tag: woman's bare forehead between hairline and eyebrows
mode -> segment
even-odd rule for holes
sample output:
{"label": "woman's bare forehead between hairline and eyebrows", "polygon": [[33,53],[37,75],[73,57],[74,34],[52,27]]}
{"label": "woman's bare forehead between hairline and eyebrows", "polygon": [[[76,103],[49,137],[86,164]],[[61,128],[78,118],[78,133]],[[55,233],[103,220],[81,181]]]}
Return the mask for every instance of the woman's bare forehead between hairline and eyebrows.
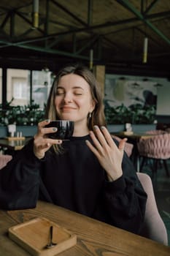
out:
{"label": "woman's bare forehead between hairline and eyebrows", "polygon": [[63,75],[58,81],[57,87],[62,87],[64,89],[80,88],[86,91],[90,90],[88,82],[80,75],[76,74]]}

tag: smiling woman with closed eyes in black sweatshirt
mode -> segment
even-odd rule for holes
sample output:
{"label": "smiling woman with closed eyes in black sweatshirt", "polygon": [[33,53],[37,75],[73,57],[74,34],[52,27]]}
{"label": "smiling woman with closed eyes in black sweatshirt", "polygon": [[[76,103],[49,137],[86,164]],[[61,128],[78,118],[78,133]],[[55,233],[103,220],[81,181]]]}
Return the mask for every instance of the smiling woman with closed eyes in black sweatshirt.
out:
{"label": "smiling woman with closed eyes in black sweatshirt", "polygon": [[[46,200],[110,225],[139,233],[146,194],[125,140],[112,140],[105,127],[101,94],[89,69],[79,64],[58,73],[47,101],[47,120],[0,172],[1,208],[34,208]],[[50,120],[74,121],[71,140],[47,138]]]}

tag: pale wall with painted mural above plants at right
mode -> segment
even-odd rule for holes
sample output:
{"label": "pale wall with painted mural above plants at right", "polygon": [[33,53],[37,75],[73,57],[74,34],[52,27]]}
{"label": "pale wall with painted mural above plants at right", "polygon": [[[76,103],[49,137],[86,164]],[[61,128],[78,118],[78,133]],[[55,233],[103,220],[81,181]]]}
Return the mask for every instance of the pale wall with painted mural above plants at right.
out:
{"label": "pale wall with painted mural above plants at right", "polygon": [[106,74],[104,99],[110,106],[144,104],[144,94],[148,91],[157,97],[157,115],[170,116],[170,81],[167,78]]}

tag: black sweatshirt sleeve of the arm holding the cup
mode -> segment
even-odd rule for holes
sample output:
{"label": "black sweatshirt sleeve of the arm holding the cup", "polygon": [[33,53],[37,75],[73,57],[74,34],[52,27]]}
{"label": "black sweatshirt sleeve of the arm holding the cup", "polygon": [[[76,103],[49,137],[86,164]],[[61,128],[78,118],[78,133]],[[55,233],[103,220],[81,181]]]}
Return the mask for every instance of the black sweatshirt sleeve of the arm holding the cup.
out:
{"label": "black sweatshirt sleeve of the arm holding the cup", "polygon": [[0,170],[0,208],[34,208],[39,197],[39,168],[32,140]]}

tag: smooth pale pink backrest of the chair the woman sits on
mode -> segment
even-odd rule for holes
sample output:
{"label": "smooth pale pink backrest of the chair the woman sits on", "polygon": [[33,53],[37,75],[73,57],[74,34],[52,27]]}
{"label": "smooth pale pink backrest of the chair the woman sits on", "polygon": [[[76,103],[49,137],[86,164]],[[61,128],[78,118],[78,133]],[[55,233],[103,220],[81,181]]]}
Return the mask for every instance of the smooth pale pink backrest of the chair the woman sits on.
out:
{"label": "smooth pale pink backrest of the chair the woman sits on", "polygon": [[147,193],[147,204],[144,217],[144,226],[140,236],[150,238],[162,244],[168,245],[168,235],[166,226],[158,212],[158,207],[155,201],[155,195],[152,187],[152,180],[146,173],[137,173],[139,181],[141,181],[144,191]]}

